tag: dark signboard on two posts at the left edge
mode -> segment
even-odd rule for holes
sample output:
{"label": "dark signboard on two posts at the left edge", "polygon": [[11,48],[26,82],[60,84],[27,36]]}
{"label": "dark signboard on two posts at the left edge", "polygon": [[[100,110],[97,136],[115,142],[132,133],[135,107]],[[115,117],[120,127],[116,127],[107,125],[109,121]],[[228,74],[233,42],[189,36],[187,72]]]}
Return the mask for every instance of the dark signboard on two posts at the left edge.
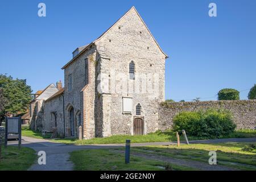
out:
{"label": "dark signboard on two posts at the left edge", "polygon": [[21,146],[21,117],[5,117],[5,147],[7,147],[7,140],[9,134],[18,134],[19,149]]}

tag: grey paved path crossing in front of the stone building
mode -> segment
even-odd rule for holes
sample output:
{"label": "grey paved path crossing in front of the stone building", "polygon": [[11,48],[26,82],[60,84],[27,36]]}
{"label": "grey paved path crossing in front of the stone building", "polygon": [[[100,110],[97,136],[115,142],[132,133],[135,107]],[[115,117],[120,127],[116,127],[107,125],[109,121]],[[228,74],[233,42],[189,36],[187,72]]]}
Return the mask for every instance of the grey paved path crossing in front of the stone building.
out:
{"label": "grey paved path crossing in front of the stone building", "polygon": [[[211,139],[211,140],[193,140],[189,143],[223,143],[223,142],[256,142],[256,138],[228,138],[228,139]],[[9,144],[17,144],[16,141],[9,141]],[[131,143],[132,147],[136,146],[157,146],[176,144],[175,142],[152,142],[152,143]],[[39,165],[36,160],[28,170],[32,171],[70,171],[73,169],[73,163],[69,161],[69,152],[86,149],[115,148],[123,147],[125,144],[94,144],[75,146],[73,144],[63,144],[51,142],[46,139],[35,139],[22,137],[22,146],[33,148],[38,154],[39,151],[46,152],[46,165]]]}

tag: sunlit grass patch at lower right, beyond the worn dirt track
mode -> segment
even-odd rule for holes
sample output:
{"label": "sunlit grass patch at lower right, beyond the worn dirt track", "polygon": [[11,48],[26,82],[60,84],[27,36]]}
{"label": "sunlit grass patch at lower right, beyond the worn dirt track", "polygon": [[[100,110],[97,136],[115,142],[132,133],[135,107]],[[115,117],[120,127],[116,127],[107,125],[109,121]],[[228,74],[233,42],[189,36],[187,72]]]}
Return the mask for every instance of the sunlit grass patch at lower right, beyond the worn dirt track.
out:
{"label": "sunlit grass patch at lower right, beyond the worn dirt track", "polygon": [[[181,144],[170,146],[134,147],[132,151],[144,154],[170,156],[177,159],[208,163],[209,151],[216,151],[217,164],[241,170],[256,170],[256,143]],[[131,152],[132,153],[132,152]]]}

